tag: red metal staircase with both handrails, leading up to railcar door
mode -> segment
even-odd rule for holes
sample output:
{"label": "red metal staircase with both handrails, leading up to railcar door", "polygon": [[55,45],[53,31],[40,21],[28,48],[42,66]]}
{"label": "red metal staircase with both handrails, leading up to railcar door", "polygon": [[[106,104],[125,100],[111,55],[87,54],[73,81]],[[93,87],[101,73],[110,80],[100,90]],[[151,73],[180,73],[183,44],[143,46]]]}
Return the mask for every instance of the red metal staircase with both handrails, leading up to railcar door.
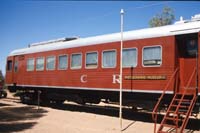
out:
{"label": "red metal staircase with both handrails, leading up to railcar door", "polygon": [[[176,77],[176,73],[177,70],[174,72],[170,80]],[[155,122],[154,133],[183,133],[197,100],[197,87],[189,87],[195,75],[197,75],[196,68],[192,72],[184,91],[175,92],[174,97],[168,106],[167,112],[161,121],[160,127],[157,130],[157,110],[165,94],[166,90],[164,90],[152,113],[152,118]],[[172,83],[171,81],[169,82]],[[167,89],[167,87],[165,89]]]}

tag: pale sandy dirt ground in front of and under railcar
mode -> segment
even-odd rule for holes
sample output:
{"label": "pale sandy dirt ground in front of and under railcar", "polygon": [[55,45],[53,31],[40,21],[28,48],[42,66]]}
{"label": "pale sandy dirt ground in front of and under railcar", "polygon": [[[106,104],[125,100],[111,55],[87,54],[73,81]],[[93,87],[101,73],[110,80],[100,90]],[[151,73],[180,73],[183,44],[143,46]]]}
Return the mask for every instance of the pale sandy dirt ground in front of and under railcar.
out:
{"label": "pale sandy dirt ground in front of and under railcar", "polygon": [[[153,133],[153,126],[150,113],[123,109],[122,133]],[[200,119],[191,119],[187,128],[187,133],[200,133]],[[65,102],[61,106],[38,109],[21,104],[9,95],[7,99],[0,99],[0,132],[120,133],[118,108]]]}

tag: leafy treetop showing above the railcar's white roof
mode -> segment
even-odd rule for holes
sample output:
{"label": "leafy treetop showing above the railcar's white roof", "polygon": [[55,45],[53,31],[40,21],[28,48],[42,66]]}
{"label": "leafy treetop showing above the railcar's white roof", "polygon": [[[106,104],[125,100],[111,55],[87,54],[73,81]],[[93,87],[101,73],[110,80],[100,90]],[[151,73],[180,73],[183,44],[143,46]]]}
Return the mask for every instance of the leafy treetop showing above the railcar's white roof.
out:
{"label": "leafy treetop showing above the railcar's white roof", "polygon": [[150,21],[150,27],[159,27],[172,24],[175,19],[174,11],[170,7],[164,7],[162,13],[156,14]]}

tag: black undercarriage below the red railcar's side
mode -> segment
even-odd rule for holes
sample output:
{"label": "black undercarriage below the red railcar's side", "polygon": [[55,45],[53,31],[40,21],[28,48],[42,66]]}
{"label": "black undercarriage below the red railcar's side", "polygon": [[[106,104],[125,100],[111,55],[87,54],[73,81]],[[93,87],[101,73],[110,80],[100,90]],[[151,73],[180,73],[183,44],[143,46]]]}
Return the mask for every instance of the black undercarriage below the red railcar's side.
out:
{"label": "black undercarriage below the red railcar's side", "polygon": [[[13,87],[9,87],[13,90]],[[75,89],[53,89],[53,88],[34,88],[34,87],[16,87],[16,95],[24,104],[62,104],[65,100],[72,101],[77,104],[99,104],[105,103],[119,103],[119,92],[117,91],[96,91],[96,90],[75,90]],[[123,106],[131,107],[134,110],[138,108],[152,111],[159,96],[157,93],[136,93],[123,92]],[[173,95],[165,96],[160,110],[166,110]],[[198,99],[193,113],[200,112],[200,100]]]}

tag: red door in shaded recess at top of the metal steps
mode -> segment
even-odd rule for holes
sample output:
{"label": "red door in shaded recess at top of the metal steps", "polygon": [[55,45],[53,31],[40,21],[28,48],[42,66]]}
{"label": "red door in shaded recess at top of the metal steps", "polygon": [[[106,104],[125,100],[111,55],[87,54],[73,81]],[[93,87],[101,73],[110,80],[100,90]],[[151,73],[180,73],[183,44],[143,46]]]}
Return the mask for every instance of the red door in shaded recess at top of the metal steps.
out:
{"label": "red door in shaded recess at top of the metal steps", "polygon": [[197,85],[196,68],[198,66],[198,33],[178,35],[176,36],[176,44],[178,45],[180,68],[178,92],[195,92]]}

